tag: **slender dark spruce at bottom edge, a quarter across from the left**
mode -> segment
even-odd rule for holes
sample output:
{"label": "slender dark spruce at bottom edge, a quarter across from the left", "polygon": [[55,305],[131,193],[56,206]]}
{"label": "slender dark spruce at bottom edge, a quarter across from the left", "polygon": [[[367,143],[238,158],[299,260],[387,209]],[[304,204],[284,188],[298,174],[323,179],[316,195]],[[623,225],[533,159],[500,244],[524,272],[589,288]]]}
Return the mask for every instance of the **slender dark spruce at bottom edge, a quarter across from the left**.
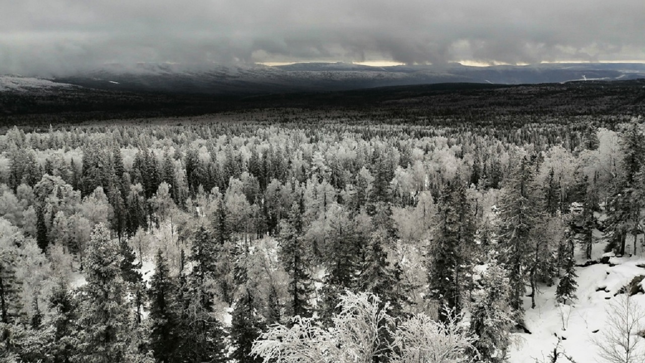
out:
{"label": "slender dark spruce at bottom edge, a quarter across from the left", "polygon": [[155,257],[155,273],[150,278],[148,299],[150,300],[150,349],[157,362],[175,362],[175,349],[181,342],[178,306],[175,302],[177,287],[168,271],[168,263],[161,250]]}

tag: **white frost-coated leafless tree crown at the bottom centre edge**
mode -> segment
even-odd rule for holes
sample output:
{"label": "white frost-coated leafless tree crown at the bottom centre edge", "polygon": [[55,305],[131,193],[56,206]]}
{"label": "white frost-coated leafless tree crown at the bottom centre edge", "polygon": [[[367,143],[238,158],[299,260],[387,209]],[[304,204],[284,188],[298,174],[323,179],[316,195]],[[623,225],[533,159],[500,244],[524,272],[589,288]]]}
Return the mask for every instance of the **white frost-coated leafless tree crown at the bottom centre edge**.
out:
{"label": "white frost-coated leafless tree crown at the bottom centre edge", "polygon": [[[471,339],[457,325],[413,316],[394,329],[388,304],[369,293],[341,296],[341,312],[325,329],[313,318],[293,318],[293,326],[276,325],[253,344],[252,354],[264,361],[299,362],[469,362]],[[382,330],[387,330],[383,334]],[[382,341],[384,335],[392,343]]]}

